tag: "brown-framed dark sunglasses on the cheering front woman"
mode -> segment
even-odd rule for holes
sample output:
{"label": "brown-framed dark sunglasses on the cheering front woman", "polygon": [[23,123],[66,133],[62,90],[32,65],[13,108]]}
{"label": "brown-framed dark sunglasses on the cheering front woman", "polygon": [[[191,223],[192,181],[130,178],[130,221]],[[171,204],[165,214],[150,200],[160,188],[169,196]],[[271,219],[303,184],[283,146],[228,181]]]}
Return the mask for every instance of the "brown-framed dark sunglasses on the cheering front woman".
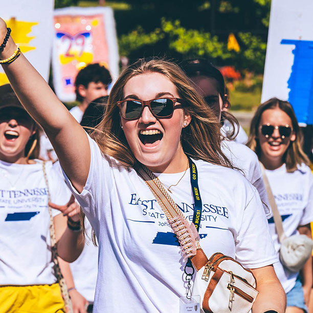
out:
{"label": "brown-framed dark sunglasses on the cheering front woman", "polygon": [[174,107],[181,108],[182,105],[175,105],[176,102],[184,103],[178,98],[160,98],[152,100],[127,99],[118,101],[120,114],[125,120],[137,120],[140,118],[145,106],[148,106],[152,115],[157,118],[170,118],[173,115]]}

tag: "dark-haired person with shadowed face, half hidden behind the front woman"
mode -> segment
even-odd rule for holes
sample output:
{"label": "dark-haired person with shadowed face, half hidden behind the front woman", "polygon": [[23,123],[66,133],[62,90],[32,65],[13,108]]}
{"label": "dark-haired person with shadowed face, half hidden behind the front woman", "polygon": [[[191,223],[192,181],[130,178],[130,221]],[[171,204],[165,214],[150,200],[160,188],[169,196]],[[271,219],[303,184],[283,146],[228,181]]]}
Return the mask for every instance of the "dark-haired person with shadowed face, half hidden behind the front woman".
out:
{"label": "dark-haired person with shadowed face, half hidden behind the front woman", "polygon": [[272,212],[269,209],[269,199],[267,199],[258,157],[247,146],[234,141],[237,136],[235,129],[238,129],[239,123],[232,114],[225,110],[229,109],[231,104],[228,101],[222,74],[205,59],[188,60],[183,62],[181,66],[193,81],[196,91],[204,97],[206,104],[221,121],[220,126],[225,121],[231,124],[232,131],[229,133],[225,133],[221,128],[221,133],[226,137],[221,142],[221,149],[232,164],[240,169],[240,172],[258,190],[266,217],[271,218]]}

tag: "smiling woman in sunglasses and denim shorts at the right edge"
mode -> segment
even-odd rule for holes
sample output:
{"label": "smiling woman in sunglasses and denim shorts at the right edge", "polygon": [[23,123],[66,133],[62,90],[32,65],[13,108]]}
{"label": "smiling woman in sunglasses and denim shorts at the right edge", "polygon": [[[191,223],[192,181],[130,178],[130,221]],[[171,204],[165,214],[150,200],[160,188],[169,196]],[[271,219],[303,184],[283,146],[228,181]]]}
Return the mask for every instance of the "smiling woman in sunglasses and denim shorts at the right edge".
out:
{"label": "smiling woman in sunglasses and denim shorts at the right edge", "polygon": [[[273,98],[258,107],[251,122],[248,146],[265,167],[286,236],[299,232],[311,238],[313,176],[300,143],[298,122],[288,102]],[[273,218],[269,223],[278,252],[280,243]],[[287,293],[286,312],[307,311],[305,304],[312,285],[311,258],[302,270],[303,288],[299,273],[290,272],[279,264],[274,267]]]}

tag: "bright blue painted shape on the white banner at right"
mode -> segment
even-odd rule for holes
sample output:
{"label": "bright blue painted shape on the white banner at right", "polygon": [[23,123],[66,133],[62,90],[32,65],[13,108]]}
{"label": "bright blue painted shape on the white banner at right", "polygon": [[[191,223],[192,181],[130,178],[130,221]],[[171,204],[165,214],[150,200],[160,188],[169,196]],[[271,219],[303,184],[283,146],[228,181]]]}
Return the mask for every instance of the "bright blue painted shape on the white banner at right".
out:
{"label": "bright blue painted shape on the white banner at right", "polygon": [[313,124],[313,41],[282,39],[281,44],[295,44],[294,63],[288,79],[288,101],[298,122]]}

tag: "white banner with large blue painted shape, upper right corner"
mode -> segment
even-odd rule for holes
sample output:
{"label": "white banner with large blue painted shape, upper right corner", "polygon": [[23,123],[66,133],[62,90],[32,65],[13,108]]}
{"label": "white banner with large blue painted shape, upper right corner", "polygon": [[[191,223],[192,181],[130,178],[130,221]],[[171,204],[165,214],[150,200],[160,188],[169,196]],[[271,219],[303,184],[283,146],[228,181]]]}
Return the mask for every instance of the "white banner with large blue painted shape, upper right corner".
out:
{"label": "white banner with large blue painted shape, upper right corner", "polygon": [[262,102],[288,100],[298,122],[313,124],[313,2],[272,0]]}

